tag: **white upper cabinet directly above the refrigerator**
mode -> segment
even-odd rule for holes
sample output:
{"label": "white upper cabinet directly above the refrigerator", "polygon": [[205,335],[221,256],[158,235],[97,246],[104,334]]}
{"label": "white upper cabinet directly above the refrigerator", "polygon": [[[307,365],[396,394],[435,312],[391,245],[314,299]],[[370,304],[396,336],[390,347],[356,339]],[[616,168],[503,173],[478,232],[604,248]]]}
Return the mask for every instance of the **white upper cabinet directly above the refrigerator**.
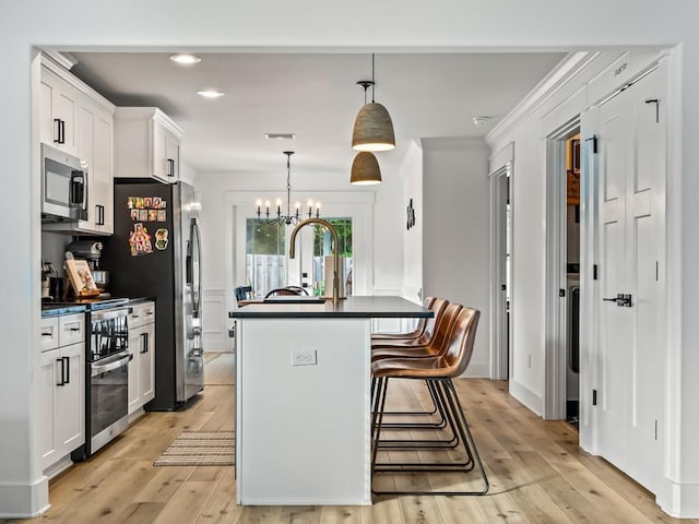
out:
{"label": "white upper cabinet directly above the refrigerator", "polygon": [[182,130],[156,107],[118,107],[115,112],[115,177],[179,180]]}

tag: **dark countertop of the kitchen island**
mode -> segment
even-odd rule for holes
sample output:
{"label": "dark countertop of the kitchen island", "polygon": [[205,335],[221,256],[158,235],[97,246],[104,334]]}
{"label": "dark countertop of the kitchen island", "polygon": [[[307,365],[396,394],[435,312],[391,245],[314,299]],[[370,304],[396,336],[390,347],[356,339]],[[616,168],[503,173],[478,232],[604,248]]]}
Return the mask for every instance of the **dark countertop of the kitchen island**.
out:
{"label": "dark countertop of the kitchen island", "polygon": [[429,309],[401,297],[348,297],[333,305],[251,302],[228,312],[232,319],[404,319],[433,317]]}

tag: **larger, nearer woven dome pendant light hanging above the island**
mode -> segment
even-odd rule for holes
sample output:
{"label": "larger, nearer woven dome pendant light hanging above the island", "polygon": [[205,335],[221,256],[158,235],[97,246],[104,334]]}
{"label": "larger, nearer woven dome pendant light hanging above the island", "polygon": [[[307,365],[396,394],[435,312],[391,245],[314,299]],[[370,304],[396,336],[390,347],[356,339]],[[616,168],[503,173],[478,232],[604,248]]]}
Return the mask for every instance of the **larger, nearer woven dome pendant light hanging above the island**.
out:
{"label": "larger, nearer woven dome pendant light hanging above the island", "polygon": [[[356,151],[389,151],[395,147],[393,122],[386,107],[374,100],[374,64],[371,53],[371,80],[357,82],[364,87],[364,106],[359,109],[352,131],[352,148]],[[367,104],[367,90],[371,86],[371,103]]]}

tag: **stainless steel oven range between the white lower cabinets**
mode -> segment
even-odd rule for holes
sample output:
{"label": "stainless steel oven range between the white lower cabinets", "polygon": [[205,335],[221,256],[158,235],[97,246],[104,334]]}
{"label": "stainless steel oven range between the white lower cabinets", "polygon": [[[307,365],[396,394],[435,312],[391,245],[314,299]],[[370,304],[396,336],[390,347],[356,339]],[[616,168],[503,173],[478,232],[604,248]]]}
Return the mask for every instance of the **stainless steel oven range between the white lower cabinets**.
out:
{"label": "stainless steel oven range between the white lower cabinets", "polygon": [[[85,460],[129,425],[129,312],[116,307],[90,311],[90,348],[85,374],[85,445],[73,452]],[[98,306],[97,306],[98,308]]]}

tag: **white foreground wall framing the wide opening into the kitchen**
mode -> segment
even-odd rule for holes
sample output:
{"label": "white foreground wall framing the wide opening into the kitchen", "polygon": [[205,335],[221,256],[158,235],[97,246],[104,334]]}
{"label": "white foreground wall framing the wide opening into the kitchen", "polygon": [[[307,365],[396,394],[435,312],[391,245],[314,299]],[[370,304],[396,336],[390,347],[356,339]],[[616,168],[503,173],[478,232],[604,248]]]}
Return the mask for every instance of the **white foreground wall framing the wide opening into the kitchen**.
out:
{"label": "white foreground wall framing the wide opening into the kitchen", "polygon": [[[3,258],[0,330],[3,357],[0,368],[0,509],[3,515],[40,511],[47,500],[47,483],[35,458],[34,370],[39,347],[38,323],[40,226],[38,132],[33,122],[36,83],[32,83],[32,46],[68,49],[208,49],[208,50],[517,50],[629,48],[682,44],[673,83],[673,97],[682,118],[674,121],[678,141],[671,144],[668,187],[677,196],[670,218],[672,282],[676,293],[672,314],[671,359],[673,384],[671,422],[673,448],[668,450],[668,476],[674,483],[667,508],[675,514],[699,515],[699,236],[695,233],[695,202],[699,195],[694,150],[699,143],[699,4],[670,0],[662,9],[653,0],[590,0],[584,9],[556,0],[370,0],[354,2],[229,2],[211,0],[205,11],[193,11],[185,0],[0,0],[0,47],[3,81],[0,82],[0,157],[2,177],[12,189],[4,203],[12,227],[0,233],[0,242],[12,246]],[[358,13],[362,29],[347,20]],[[299,15],[300,14],[300,15]],[[192,23],[196,15],[197,23]],[[294,23],[289,24],[288,21]],[[80,31],[75,31],[79,27]],[[34,68],[38,73],[38,69]],[[686,166],[686,167],[685,167]],[[401,193],[400,186],[395,188]],[[378,200],[378,199],[377,199]],[[668,207],[670,209],[670,207]],[[390,215],[390,213],[389,213]],[[396,221],[402,225],[402,216]],[[378,218],[378,216],[377,216]],[[390,218],[387,217],[387,218]],[[683,227],[686,224],[687,227]],[[378,240],[378,239],[377,239]],[[402,248],[399,247],[402,251]],[[377,257],[379,257],[377,252]],[[378,269],[383,271],[382,269]],[[380,274],[377,271],[377,279]],[[387,281],[390,275],[387,275]],[[396,285],[402,277],[395,278]],[[684,402],[683,402],[684,401]]]}

